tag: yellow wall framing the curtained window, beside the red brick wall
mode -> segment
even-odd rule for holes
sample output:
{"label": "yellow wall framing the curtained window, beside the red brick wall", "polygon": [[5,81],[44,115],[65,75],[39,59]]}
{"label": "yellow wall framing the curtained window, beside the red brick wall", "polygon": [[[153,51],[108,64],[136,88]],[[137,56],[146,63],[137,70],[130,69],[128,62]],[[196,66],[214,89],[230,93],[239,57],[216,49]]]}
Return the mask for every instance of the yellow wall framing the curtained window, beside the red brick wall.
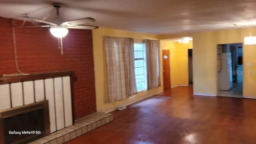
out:
{"label": "yellow wall framing the curtained window, beside the red brick wall", "polygon": [[[109,28],[98,28],[92,31],[93,38],[93,55],[94,55],[94,74],[95,74],[95,89],[96,89],[96,107],[102,108],[103,111],[108,111],[113,108],[117,108],[122,104],[127,104],[138,99],[142,99],[147,96],[152,96],[159,92],[162,92],[161,87],[154,90],[144,90],[138,92],[138,94],[127,98],[125,100],[120,100],[116,102],[108,103],[108,89],[107,89],[107,77],[106,77],[106,58],[105,58],[105,49],[103,46],[103,37],[102,36],[116,36],[116,37],[125,37],[125,38],[134,38],[134,39],[151,39],[156,40],[155,35],[151,34],[142,34],[138,32],[129,32],[124,30],[115,30]],[[160,65],[162,66],[162,60]],[[162,72],[160,73],[162,78]],[[162,82],[162,80],[161,80]]]}

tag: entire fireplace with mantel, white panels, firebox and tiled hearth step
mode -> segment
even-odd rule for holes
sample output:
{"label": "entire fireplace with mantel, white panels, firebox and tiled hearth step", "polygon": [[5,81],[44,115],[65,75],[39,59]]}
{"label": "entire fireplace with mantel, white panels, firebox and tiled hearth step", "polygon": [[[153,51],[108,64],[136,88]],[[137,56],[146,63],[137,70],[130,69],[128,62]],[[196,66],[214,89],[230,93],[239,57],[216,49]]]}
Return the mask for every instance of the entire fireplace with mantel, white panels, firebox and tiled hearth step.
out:
{"label": "entire fireplace with mantel, white panels, firebox and tiled hearth step", "polygon": [[72,118],[73,80],[73,71],[0,77],[0,144],[62,144],[111,122],[103,112]]}

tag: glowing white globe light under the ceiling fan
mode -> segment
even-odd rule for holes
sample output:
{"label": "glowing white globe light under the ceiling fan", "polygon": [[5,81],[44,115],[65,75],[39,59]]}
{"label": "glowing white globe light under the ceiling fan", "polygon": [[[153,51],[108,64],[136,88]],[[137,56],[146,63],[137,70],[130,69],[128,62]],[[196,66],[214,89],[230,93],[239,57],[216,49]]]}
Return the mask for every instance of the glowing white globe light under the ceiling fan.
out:
{"label": "glowing white globe light under the ceiling fan", "polygon": [[50,28],[50,32],[53,36],[57,38],[63,38],[68,34],[68,29],[66,28],[66,26],[52,25]]}

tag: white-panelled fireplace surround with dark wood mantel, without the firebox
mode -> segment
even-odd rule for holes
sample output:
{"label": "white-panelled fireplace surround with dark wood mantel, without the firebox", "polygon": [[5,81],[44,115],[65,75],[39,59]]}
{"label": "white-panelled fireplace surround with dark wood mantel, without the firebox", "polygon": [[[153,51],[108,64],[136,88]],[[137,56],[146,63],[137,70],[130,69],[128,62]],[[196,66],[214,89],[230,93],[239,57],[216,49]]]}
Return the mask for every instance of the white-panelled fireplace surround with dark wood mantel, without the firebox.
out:
{"label": "white-panelled fireplace surround with dark wood mantel, without the firebox", "polygon": [[74,72],[0,77],[0,111],[48,100],[50,133],[72,126]]}

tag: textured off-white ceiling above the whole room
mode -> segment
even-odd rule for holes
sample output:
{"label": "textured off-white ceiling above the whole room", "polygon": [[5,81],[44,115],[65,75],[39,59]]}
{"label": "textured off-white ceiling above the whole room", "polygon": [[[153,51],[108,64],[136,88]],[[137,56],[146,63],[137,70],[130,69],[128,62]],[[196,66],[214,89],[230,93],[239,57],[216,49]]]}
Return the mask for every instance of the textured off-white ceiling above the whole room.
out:
{"label": "textured off-white ceiling above the whole room", "polygon": [[[48,20],[56,13],[49,0],[0,0],[0,16],[24,14]],[[256,0],[58,0],[65,20],[92,17],[88,25],[150,34],[236,28],[256,22]],[[254,26],[254,24],[249,24]]]}

